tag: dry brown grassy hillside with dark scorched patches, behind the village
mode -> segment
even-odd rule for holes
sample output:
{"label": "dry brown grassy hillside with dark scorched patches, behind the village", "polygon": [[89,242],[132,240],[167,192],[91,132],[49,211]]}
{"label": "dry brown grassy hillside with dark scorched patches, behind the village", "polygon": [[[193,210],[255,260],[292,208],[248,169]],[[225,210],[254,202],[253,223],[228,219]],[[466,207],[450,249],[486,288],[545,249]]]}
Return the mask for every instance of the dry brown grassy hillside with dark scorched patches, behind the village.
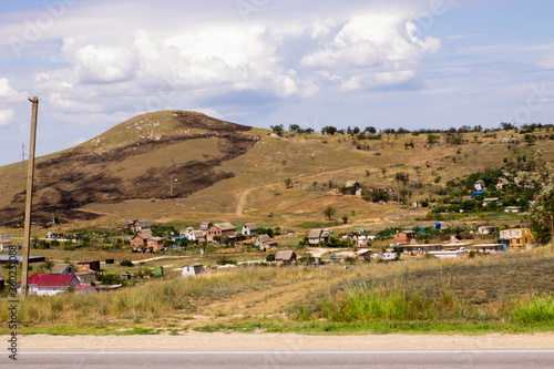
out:
{"label": "dry brown grassy hillside with dark scorched patches, behind the village", "polygon": [[[332,206],[334,224],[347,215],[346,227],[381,227],[398,224],[394,202],[371,204],[337,187],[356,180],[367,188],[396,189],[394,175],[402,172],[423,184],[410,189],[412,201],[432,199],[450,180],[531,160],[536,150],[552,161],[546,132],[533,134],[545,140],[531,144],[515,131],[462,133],[455,142],[435,134],[433,144],[427,134],[410,133],[380,140],[291,132],[276,136],[199,113],[148,113],[40,157],[33,221],[57,216],[68,227],[113,227],[130,218],[229,221],[295,228],[329,224],[321,212]],[[0,226],[17,227],[24,208],[21,164],[0,167]],[[418,214],[408,212],[401,209],[403,223]]]}

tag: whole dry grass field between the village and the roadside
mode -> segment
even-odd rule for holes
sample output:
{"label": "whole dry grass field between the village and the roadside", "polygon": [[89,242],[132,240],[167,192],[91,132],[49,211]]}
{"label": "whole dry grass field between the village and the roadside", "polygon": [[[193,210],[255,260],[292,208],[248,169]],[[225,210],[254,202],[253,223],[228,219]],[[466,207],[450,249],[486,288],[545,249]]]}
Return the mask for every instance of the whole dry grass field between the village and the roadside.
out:
{"label": "whole dry grass field between the village and the roadside", "polygon": [[[545,297],[551,291],[552,280],[545,279],[542,285],[535,283],[533,294],[531,290],[521,294],[502,288],[503,275],[506,268],[516,270],[510,278],[522,280],[520,287],[525,288],[531,283],[529,276],[536,268],[544,269],[540,263],[552,268],[554,258],[522,254],[465,260],[411,259],[358,264],[348,268],[242,267],[199,278],[155,280],[110,294],[31,297],[20,303],[18,318],[22,329],[28,330],[64,325],[89,327],[99,322],[112,322],[114,327],[203,328],[274,318],[288,327],[294,327],[297,320],[320,318],[347,322],[392,318],[452,319],[452,316],[461,322],[476,319],[499,324],[512,317],[507,311],[517,308],[520,312],[514,319],[520,317],[517,319],[524,321],[531,319],[530,316],[540,316],[541,311],[551,314],[550,300],[535,301],[533,296]],[[535,264],[536,268],[533,268]],[[470,297],[478,296],[482,286],[468,280],[480,280],[483,275],[488,279],[496,278],[493,285],[497,287],[496,295],[489,301],[472,300]],[[551,277],[546,275],[544,278]],[[418,283],[416,287],[410,285],[413,280]],[[363,296],[372,296],[373,303],[360,300]],[[349,308],[349,300],[358,301],[356,307]],[[0,300],[0,320],[3,321],[8,318],[6,304],[6,299]],[[360,316],[367,310],[363,308],[367,304],[381,304],[378,306],[381,306],[379,311],[382,315]],[[392,310],[387,310],[386,306]],[[350,311],[346,316],[345,308]],[[422,309],[422,315],[414,318],[414,309]],[[286,318],[287,311],[293,320]]]}

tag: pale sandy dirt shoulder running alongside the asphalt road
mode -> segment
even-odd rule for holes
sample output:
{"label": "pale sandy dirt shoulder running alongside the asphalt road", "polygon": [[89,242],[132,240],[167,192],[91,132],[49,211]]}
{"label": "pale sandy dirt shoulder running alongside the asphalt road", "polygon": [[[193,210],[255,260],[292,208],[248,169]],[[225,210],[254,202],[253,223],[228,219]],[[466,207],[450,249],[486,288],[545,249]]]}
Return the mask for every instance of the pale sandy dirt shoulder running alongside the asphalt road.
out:
{"label": "pale sandy dirt shoulder running alongside the asphalt road", "polygon": [[[8,336],[1,336],[2,341]],[[179,336],[22,336],[22,350],[371,350],[371,349],[553,349],[554,334],[368,335],[204,334]],[[21,353],[22,356],[24,352]]]}

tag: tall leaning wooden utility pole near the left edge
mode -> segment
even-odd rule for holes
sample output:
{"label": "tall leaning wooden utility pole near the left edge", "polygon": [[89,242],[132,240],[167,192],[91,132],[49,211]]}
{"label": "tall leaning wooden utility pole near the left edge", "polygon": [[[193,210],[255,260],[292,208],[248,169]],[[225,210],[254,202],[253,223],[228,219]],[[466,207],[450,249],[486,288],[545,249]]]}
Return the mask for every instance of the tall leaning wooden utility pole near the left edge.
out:
{"label": "tall leaning wooden utility pole near the left edge", "polygon": [[39,115],[39,98],[34,96],[31,116],[31,139],[29,146],[29,170],[27,175],[27,195],[25,195],[25,222],[23,238],[23,265],[21,270],[21,297],[27,296],[27,278],[29,277],[29,253],[31,249],[31,209],[33,198],[33,178],[34,178],[34,147],[37,143],[37,116]]}

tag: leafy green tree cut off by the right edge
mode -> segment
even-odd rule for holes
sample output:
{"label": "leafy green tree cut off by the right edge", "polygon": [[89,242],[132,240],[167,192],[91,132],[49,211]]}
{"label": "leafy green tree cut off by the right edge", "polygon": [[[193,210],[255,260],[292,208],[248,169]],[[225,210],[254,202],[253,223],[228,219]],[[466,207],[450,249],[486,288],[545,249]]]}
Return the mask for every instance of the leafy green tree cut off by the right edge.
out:
{"label": "leafy green tree cut off by the right edge", "polygon": [[531,175],[535,186],[535,201],[530,205],[527,217],[542,233],[542,239],[547,239],[547,229],[552,242],[551,252],[554,253],[554,168],[536,154],[536,171]]}

